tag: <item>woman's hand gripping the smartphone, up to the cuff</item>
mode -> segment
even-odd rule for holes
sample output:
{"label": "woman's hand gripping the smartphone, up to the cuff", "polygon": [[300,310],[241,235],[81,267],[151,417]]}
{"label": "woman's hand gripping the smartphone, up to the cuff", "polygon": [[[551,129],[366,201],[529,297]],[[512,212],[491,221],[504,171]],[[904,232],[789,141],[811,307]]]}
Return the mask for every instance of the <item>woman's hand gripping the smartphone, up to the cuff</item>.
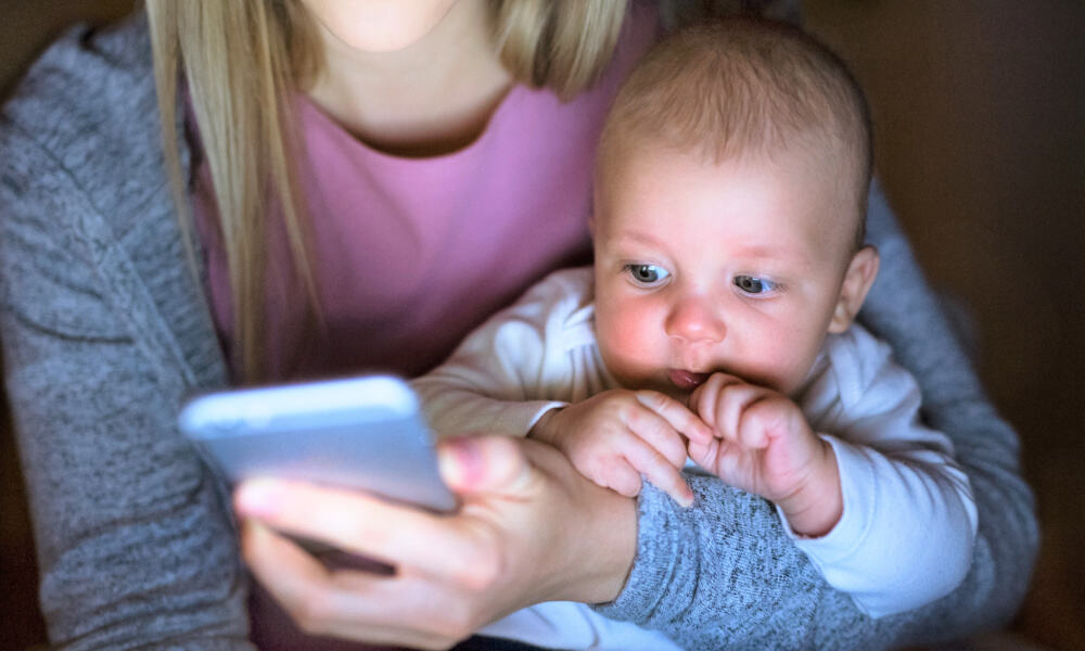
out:
{"label": "woman's hand gripping the smartphone, up to the cuff", "polygon": [[[445,649],[540,601],[613,600],[636,552],[636,505],[525,439],[449,439],[438,449],[461,508],[433,514],[368,495],[254,480],[234,501],[257,579],[312,635]],[[275,529],[275,531],[272,531]],[[277,532],[395,567],[328,570]]]}

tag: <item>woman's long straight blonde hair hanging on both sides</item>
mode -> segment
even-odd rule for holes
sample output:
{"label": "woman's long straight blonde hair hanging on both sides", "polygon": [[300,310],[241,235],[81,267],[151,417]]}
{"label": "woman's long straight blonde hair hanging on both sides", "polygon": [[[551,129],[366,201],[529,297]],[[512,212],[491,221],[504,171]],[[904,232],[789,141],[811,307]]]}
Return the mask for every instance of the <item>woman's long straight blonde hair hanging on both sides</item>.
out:
{"label": "woman's long straight blonde hair hanging on both sides", "polygon": [[[521,82],[571,98],[610,62],[626,0],[490,0],[495,43]],[[295,156],[291,95],[323,65],[302,0],[148,0],[163,146],[186,242],[191,242],[188,179],[178,142],[178,88],[187,85],[210,170],[226,250],[237,349],[244,382],[266,379],[264,361],[266,215],[282,215],[292,272],[319,322],[307,246],[305,201]],[[190,250],[191,253],[191,250]]]}

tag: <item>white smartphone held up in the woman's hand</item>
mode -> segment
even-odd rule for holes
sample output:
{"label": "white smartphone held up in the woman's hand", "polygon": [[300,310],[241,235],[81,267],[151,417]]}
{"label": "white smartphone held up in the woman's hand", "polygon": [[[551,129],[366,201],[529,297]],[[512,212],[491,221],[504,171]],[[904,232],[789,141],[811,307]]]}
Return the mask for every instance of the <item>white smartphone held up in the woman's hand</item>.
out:
{"label": "white smartphone held up in the woman's hand", "polygon": [[433,511],[456,497],[441,481],[433,433],[403,380],[367,375],[207,394],[181,432],[230,482],[253,476],[365,490]]}

